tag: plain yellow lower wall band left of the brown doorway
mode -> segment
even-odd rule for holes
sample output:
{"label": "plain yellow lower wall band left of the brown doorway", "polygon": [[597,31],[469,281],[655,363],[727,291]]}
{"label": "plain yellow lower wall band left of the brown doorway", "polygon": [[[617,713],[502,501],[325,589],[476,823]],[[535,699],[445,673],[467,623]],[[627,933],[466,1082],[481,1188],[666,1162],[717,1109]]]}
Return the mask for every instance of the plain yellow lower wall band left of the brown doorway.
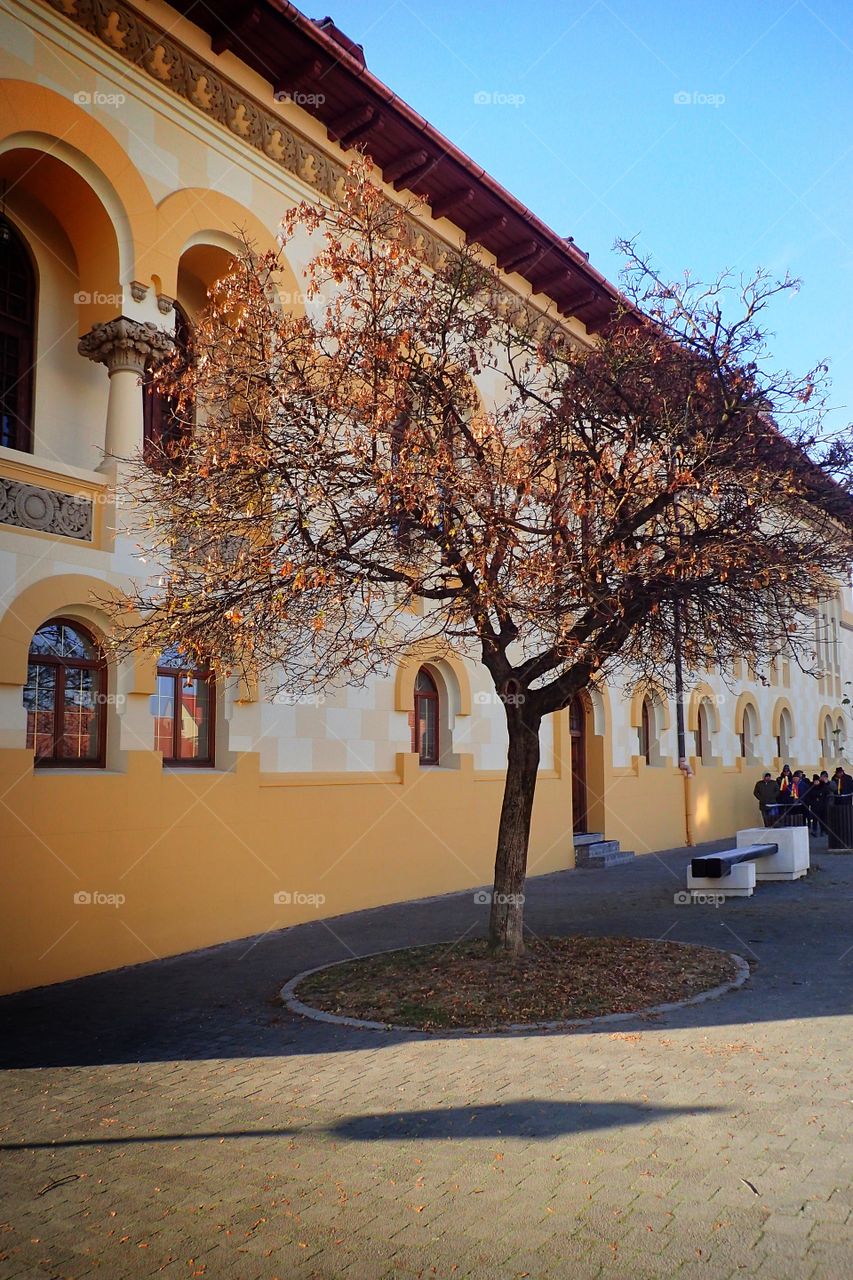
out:
{"label": "plain yellow lower wall band left of the brown doorway", "polygon": [[[129,753],[123,773],[35,773],[29,751],[1,751],[0,992],[491,883],[501,792],[500,778],[409,756],[393,780],[292,785],[254,754],[227,773],[164,771],[152,751]],[[573,863],[558,776],[539,783],[533,860]],[[277,892],[324,901],[277,905]]]}

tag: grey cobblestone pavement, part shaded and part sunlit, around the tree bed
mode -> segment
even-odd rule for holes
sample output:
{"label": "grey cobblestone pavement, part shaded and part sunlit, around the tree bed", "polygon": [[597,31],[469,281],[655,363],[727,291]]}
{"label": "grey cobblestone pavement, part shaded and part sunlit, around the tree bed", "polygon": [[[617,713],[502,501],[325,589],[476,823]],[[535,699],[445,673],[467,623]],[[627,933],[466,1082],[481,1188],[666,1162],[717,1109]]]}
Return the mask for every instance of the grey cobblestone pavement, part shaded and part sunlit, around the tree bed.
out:
{"label": "grey cobblestone pavement, part shaded and part sunlit, around the tree bed", "polygon": [[685,850],[529,882],[539,934],[704,942],[739,992],[466,1039],[302,1020],[286,979],[457,938],[473,895],[0,1001],[0,1277],[853,1274],[853,858],[679,906]]}

